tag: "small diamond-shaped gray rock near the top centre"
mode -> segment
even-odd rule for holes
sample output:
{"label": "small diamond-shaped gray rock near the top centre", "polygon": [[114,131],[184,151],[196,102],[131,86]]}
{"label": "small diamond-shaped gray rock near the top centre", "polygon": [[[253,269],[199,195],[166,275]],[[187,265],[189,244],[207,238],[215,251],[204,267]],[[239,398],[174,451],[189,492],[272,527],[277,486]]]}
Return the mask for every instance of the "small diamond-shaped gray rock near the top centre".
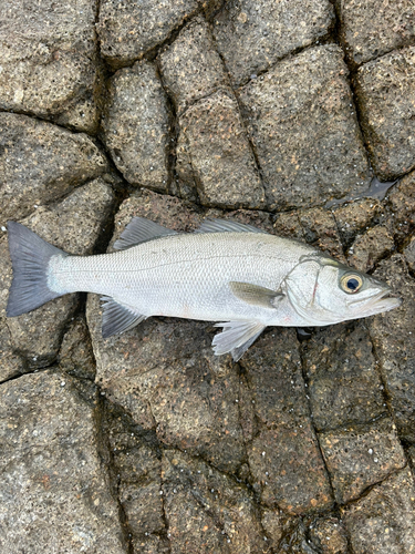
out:
{"label": "small diamond-shaped gray rock near the top centre", "polygon": [[200,17],[180,31],[159,59],[164,84],[178,113],[195,100],[227,84],[224,63],[215,49],[209,28]]}

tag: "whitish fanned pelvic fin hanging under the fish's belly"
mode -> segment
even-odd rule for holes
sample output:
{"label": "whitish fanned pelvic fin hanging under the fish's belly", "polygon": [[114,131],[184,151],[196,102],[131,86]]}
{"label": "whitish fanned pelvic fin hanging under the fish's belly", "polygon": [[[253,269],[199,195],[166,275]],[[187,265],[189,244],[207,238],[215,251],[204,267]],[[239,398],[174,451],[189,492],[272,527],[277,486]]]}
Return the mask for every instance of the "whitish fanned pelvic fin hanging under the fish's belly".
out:
{"label": "whitish fanned pelvic fin hanging under the fish's belly", "polygon": [[241,358],[266,328],[258,321],[228,321],[216,324],[215,327],[224,327],[211,343],[215,355],[230,352],[235,361]]}

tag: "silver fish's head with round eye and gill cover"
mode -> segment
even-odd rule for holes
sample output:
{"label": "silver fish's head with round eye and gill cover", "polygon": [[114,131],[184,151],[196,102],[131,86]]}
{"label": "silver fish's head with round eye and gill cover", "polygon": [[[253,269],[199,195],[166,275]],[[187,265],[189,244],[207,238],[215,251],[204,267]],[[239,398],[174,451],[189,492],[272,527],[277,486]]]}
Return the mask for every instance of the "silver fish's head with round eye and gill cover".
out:
{"label": "silver fish's head with round eye and gill cover", "polygon": [[300,259],[286,277],[287,296],[309,326],[373,316],[401,306],[391,287],[371,275],[317,254]]}

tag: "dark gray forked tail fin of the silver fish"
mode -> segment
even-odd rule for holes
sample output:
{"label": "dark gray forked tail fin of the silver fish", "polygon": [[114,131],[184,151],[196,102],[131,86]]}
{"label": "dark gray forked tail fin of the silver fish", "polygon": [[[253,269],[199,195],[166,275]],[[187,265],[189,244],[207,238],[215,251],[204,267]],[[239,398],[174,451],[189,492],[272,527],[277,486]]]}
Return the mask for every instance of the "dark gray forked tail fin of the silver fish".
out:
{"label": "dark gray forked tail fin of the silver fish", "polygon": [[13,280],[9,290],[7,315],[14,317],[62,296],[48,287],[48,266],[52,256],[68,254],[20,223],[8,222],[8,235]]}

